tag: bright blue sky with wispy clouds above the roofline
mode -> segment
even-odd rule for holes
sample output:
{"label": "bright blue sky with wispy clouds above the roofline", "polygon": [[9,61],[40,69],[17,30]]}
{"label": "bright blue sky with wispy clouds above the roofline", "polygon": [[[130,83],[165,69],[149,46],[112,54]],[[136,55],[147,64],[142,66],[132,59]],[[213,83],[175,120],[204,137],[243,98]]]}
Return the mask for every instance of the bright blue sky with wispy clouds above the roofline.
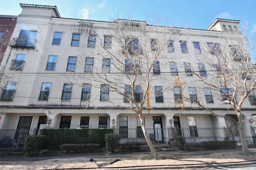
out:
{"label": "bright blue sky with wispy clouds above the roofline", "polygon": [[256,0],[8,0],[0,15],[18,15],[22,4],[57,6],[62,18],[112,21],[121,18],[159,21],[159,25],[207,29],[216,19],[246,21],[256,31]]}

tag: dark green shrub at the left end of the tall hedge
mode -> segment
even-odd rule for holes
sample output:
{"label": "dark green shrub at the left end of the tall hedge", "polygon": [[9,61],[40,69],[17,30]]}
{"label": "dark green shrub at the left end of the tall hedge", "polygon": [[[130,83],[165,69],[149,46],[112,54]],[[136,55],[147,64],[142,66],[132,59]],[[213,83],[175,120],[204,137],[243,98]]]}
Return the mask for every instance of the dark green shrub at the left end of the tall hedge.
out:
{"label": "dark green shrub at the left end of the tall hedge", "polygon": [[36,155],[40,153],[42,146],[44,145],[43,135],[31,135],[25,138],[24,154],[25,155]]}

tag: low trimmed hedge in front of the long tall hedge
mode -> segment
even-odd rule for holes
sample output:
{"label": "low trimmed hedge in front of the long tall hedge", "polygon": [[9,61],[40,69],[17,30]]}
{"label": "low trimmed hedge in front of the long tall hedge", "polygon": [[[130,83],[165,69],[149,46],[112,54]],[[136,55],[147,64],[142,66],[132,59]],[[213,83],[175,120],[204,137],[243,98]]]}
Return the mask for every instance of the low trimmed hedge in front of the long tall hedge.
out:
{"label": "low trimmed hedge in front of the long tall hedge", "polygon": [[100,152],[100,144],[63,144],[60,145],[62,153],[91,153]]}

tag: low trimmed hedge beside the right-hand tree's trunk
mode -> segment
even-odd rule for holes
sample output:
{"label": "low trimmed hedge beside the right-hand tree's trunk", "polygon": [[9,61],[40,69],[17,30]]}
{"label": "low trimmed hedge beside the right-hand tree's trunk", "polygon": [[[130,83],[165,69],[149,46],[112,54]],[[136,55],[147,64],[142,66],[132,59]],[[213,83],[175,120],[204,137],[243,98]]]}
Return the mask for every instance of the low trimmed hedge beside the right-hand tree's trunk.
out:
{"label": "low trimmed hedge beside the right-hand tree's trunk", "polygon": [[200,143],[205,150],[214,149],[234,149],[237,147],[236,141],[204,141]]}

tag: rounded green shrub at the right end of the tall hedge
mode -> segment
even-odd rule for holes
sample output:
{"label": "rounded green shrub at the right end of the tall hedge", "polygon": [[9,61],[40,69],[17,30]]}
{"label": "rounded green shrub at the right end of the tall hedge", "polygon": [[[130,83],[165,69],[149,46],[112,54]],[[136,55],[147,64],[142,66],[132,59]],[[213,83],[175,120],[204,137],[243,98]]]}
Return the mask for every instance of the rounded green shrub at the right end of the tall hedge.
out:
{"label": "rounded green shrub at the right end of the tall hedge", "polygon": [[119,146],[119,135],[116,133],[105,134],[106,149],[111,153],[114,153]]}

